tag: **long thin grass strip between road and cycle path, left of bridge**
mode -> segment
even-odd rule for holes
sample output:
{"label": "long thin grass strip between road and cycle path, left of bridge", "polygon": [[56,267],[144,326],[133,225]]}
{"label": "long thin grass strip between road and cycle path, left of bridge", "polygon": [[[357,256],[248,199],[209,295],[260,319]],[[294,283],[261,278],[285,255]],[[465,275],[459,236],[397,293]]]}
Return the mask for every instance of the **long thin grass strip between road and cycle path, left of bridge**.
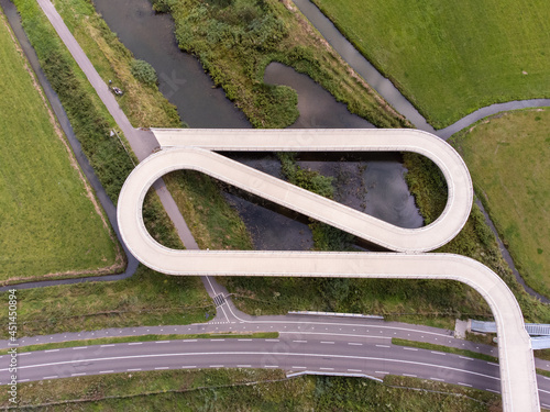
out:
{"label": "long thin grass strip between road and cycle path, left of bridge", "polygon": [[[47,350],[57,349],[65,347],[76,347],[76,346],[92,346],[92,345],[105,345],[105,344],[119,344],[128,342],[152,342],[152,341],[179,341],[179,339],[209,339],[209,338],[239,338],[239,337],[250,337],[254,339],[268,339],[278,337],[278,332],[257,332],[257,333],[201,333],[201,334],[168,334],[168,335],[140,335],[140,336],[123,336],[123,337],[99,337],[95,339],[81,339],[81,341],[69,341],[69,342],[54,342],[40,345],[29,345],[18,347],[18,353],[22,352],[36,352],[36,350]],[[1,349],[0,355],[8,354],[8,349]]]}

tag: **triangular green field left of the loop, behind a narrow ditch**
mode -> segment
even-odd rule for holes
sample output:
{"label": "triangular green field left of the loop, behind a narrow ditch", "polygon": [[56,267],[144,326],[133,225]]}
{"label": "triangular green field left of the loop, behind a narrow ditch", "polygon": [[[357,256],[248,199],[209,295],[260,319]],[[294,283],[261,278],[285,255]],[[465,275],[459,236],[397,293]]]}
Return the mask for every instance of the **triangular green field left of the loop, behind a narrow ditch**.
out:
{"label": "triangular green field left of the loop, behind a narrow ditch", "polygon": [[[111,230],[7,24],[1,14],[0,281],[112,271]],[[119,257],[116,266],[121,264]]]}

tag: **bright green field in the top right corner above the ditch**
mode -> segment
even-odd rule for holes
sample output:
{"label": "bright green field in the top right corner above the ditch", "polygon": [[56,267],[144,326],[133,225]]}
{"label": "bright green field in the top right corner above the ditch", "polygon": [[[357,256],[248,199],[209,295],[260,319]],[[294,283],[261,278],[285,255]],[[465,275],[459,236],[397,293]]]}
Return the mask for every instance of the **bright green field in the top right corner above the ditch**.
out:
{"label": "bright green field in the top right corner above the ditch", "polygon": [[314,0],[436,127],[550,96],[546,0]]}

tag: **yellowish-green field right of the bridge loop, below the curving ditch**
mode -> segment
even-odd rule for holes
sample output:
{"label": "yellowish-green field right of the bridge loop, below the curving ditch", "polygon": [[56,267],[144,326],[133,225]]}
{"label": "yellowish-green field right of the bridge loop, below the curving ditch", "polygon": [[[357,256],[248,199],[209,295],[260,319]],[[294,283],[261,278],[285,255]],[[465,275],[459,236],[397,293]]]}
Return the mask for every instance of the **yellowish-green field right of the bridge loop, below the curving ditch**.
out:
{"label": "yellowish-green field right of the bridge loop, below the curving ditch", "polygon": [[550,110],[498,114],[454,137],[514,261],[550,296]]}

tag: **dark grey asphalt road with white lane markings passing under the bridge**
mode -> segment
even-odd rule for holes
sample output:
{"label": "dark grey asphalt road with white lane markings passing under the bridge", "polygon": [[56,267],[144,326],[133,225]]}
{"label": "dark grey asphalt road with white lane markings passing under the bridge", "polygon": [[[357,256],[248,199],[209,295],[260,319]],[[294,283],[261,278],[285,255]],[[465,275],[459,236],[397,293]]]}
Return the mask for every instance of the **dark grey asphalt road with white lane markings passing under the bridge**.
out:
{"label": "dark grey asphalt road with white lane markings passing under the bridge", "polygon": [[[0,361],[6,365],[4,358]],[[22,353],[19,381],[86,375],[193,368],[278,368],[342,372],[383,379],[399,375],[499,393],[498,364],[447,353],[395,346],[377,337],[283,334],[279,338],[133,342]],[[0,385],[9,382],[0,369]],[[541,405],[550,408],[550,379],[538,377]]]}

